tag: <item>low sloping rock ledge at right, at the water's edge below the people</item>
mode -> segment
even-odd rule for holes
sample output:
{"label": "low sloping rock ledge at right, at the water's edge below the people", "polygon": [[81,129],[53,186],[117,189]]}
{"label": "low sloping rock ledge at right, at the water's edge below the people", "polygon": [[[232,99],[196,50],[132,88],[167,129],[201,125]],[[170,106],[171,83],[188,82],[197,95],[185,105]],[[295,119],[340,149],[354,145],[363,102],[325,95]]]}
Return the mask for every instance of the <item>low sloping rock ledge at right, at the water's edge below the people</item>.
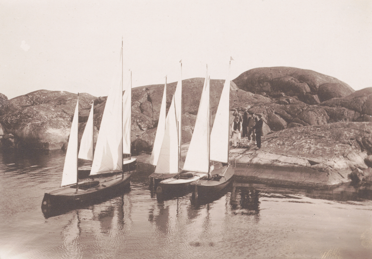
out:
{"label": "low sloping rock ledge at right, at the water's edge below the people", "polygon": [[[235,175],[299,185],[368,181],[370,122],[338,122],[292,128],[262,137],[255,149],[246,139],[231,150]],[[353,175],[356,178],[353,178]]]}

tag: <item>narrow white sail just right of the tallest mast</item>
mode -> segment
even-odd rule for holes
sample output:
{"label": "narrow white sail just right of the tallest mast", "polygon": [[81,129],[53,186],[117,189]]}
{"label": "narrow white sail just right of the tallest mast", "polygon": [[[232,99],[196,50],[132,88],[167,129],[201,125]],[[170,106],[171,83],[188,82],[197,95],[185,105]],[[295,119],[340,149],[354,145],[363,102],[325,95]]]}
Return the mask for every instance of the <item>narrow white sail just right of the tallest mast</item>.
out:
{"label": "narrow white sail just right of the tallest mast", "polygon": [[123,95],[123,154],[131,153],[132,87],[129,83]]}

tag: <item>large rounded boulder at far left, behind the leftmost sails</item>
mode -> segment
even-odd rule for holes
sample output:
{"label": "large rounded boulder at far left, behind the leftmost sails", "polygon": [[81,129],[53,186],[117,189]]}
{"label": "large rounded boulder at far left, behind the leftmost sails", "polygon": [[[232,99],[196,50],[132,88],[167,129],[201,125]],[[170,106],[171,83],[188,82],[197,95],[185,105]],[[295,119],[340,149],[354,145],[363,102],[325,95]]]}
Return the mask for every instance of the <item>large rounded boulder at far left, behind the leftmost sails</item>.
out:
{"label": "large rounded boulder at far left, behind the leftmost sails", "polygon": [[[94,98],[80,94],[79,107],[90,109]],[[61,149],[70,135],[76,100],[77,94],[61,91],[41,90],[22,95],[5,103],[11,109],[1,118],[1,124],[17,139],[17,147]],[[18,109],[14,110],[15,107]]]}

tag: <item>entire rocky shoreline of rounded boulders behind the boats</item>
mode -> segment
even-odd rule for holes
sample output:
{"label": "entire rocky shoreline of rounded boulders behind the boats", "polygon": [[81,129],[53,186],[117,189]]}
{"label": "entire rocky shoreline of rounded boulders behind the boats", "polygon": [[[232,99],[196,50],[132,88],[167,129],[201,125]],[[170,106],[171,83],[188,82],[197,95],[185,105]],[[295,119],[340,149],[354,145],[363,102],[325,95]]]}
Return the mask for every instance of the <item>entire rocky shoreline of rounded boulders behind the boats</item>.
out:
{"label": "entire rocky shoreline of rounded boulders behind the boats", "polygon": [[[190,141],[203,78],[183,84],[183,143]],[[224,80],[211,80],[212,114]],[[149,154],[156,133],[164,85],[132,90],[132,154]],[[176,82],[167,84],[167,107]],[[99,132],[106,97],[80,94],[79,136],[94,101],[94,135]],[[7,100],[0,94],[0,146],[64,149],[77,94],[39,90]],[[311,70],[255,68],[231,81],[231,109],[262,113],[262,148],[242,139],[231,149],[237,177],[301,185],[371,182],[372,88],[354,91],[336,78]],[[213,117],[213,116],[212,116]],[[182,156],[187,152],[183,145]],[[148,165],[148,155],[139,157]],[[151,170],[151,166],[149,166]]]}

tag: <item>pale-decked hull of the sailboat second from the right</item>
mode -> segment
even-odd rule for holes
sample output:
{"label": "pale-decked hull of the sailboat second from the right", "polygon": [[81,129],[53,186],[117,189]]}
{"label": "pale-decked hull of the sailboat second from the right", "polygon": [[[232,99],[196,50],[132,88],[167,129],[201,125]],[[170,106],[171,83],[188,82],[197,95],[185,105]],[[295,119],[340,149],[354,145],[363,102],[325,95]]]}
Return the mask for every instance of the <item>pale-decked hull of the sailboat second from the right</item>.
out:
{"label": "pale-decked hull of the sailboat second from the right", "polygon": [[208,174],[199,173],[199,172],[187,172],[187,174],[192,174],[193,177],[190,178],[179,178],[179,177],[172,177],[165,179],[158,183],[158,187],[156,188],[157,193],[163,192],[170,192],[176,190],[185,190],[189,187],[190,183],[196,181],[202,177],[206,177]]}

